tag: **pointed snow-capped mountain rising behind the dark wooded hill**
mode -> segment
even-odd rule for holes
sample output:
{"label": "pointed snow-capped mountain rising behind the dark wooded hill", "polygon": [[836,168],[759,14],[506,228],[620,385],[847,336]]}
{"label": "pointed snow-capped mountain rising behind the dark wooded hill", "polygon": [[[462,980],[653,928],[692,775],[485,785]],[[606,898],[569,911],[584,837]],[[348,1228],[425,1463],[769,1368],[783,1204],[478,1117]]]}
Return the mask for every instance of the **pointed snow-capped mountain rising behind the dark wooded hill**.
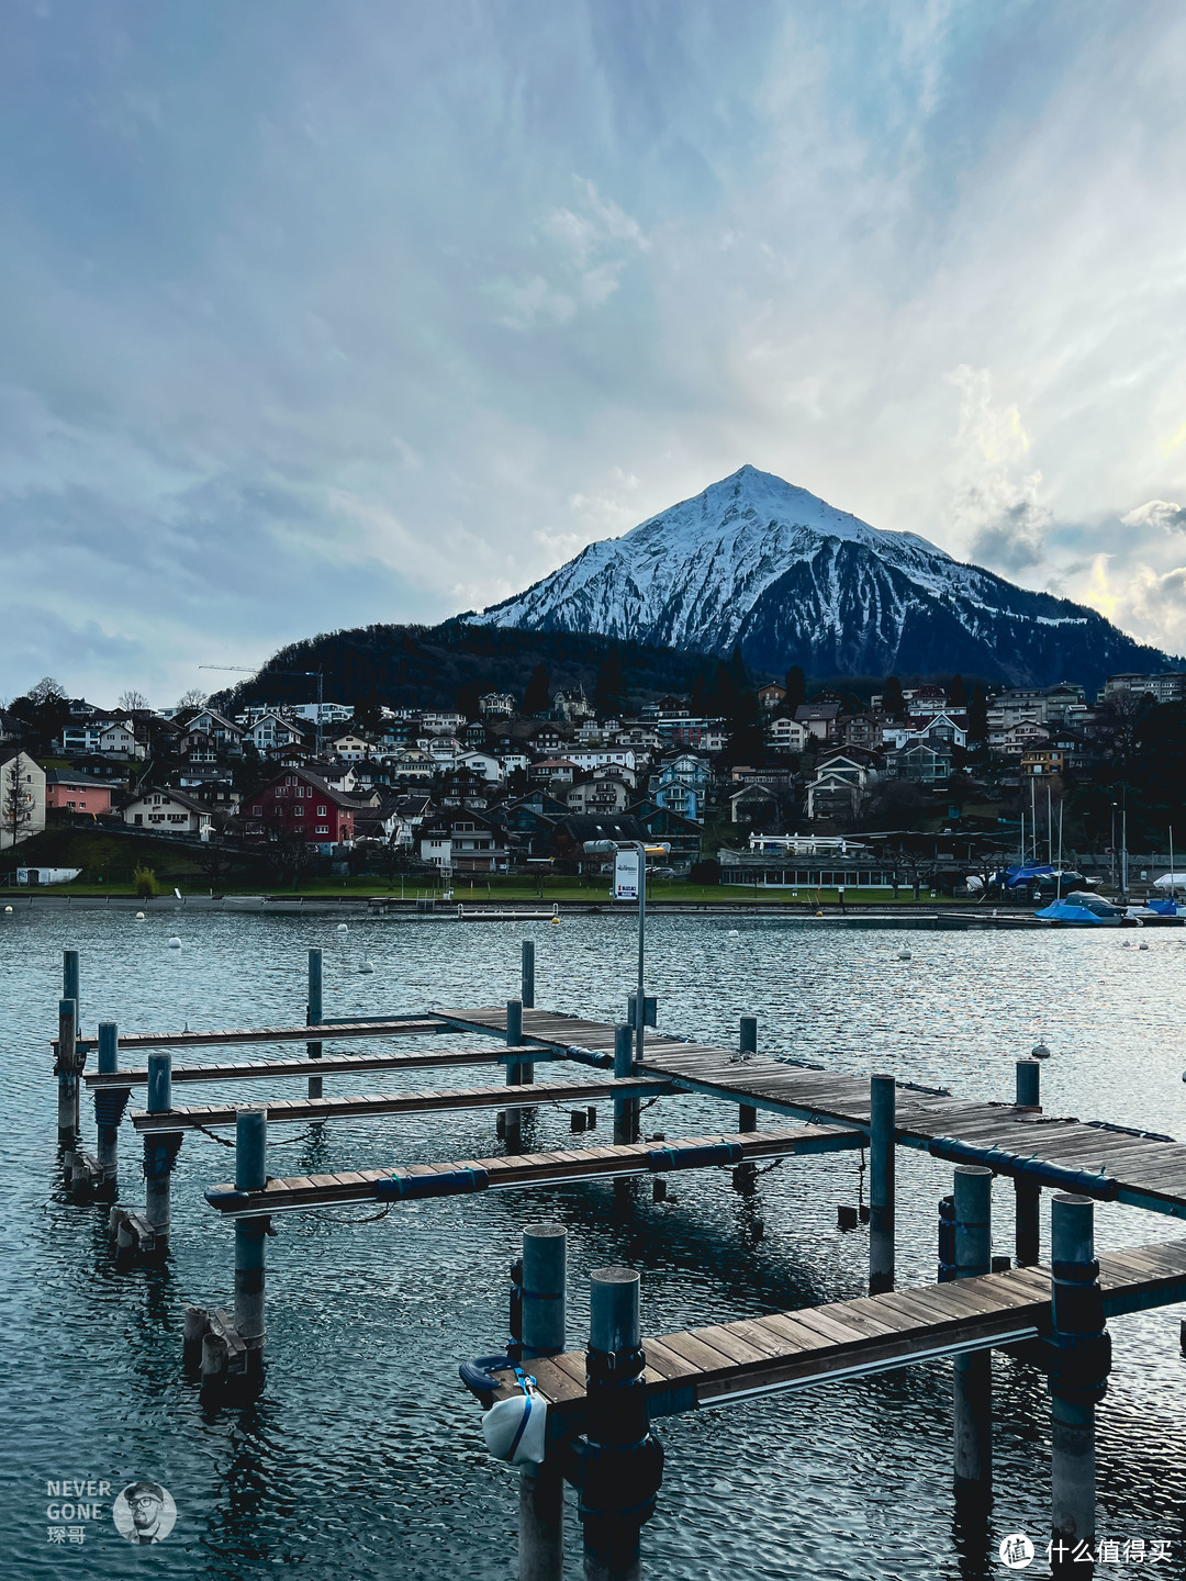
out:
{"label": "pointed snow-capped mountain rising behind the dark wooded hill", "polygon": [[743,466],[517,598],[465,617],[727,655],[773,674],[980,675],[1010,685],[1173,662],[1091,609],[960,564]]}

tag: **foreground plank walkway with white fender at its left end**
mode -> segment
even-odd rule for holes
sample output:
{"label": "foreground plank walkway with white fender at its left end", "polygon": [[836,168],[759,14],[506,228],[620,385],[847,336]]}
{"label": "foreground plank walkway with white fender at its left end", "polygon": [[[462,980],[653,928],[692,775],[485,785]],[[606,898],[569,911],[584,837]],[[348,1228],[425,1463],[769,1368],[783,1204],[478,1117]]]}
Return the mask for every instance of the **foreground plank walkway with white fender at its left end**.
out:
{"label": "foreground plank walkway with white fender at its left end", "polygon": [[[1186,1241],[1099,1258],[1104,1312],[1170,1306],[1186,1300]],[[1003,1274],[859,1296],[827,1306],[710,1323],[644,1341],[652,1417],[675,1415],[761,1394],[860,1377],[936,1356],[1018,1344],[1050,1331],[1050,1274]],[[531,1361],[549,1407],[579,1431],[585,1406],[585,1352]],[[511,1372],[495,1399],[517,1393]]]}

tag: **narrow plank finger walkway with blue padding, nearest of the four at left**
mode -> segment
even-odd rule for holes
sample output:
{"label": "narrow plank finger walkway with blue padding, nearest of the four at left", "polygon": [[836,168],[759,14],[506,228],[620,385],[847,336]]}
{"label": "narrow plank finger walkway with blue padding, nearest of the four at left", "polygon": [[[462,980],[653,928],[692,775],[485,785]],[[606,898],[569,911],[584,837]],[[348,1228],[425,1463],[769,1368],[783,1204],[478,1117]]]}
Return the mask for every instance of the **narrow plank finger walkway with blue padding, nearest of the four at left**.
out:
{"label": "narrow plank finger walkway with blue padding, nearest of the four at left", "polygon": [[[503,1094],[512,1091],[503,1088]],[[520,1088],[539,1099],[546,1088]],[[694,1137],[683,1141],[633,1143],[629,1146],[582,1148],[576,1153],[523,1153],[495,1159],[460,1159],[454,1164],[387,1165],[383,1170],[357,1170],[342,1175],[302,1175],[270,1179],[263,1190],[239,1192],[229,1183],[206,1192],[212,1208],[228,1217],[258,1217],[272,1213],[330,1208],[343,1203],[381,1200],[381,1183],[392,1176],[424,1179],[448,1176],[441,1190],[421,1195],[459,1195],[468,1190],[498,1190],[523,1186],[558,1186],[566,1181],[614,1179],[623,1175],[653,1175],[678,1168],[708,1168],[742,1159],[786,1159],[811,1153],[837,1153],[859,1148],[862,1135],[837,1126],[794,1126],[783,1130],[750,1130],[740,1135]],[[732,1149],[734,1156],[705,1157],[691,1162],[691,1149]],[[686,1157],[682,1160],[680,1153]]]}

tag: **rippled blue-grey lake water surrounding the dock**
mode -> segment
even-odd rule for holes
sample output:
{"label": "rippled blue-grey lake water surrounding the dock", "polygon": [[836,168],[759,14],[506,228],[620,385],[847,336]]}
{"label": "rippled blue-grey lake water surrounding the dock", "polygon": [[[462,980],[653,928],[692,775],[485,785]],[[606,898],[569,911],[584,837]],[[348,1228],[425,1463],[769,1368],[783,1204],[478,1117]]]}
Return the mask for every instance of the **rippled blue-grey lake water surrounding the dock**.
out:
{"label": "rippled blue-grey lake water surrounding the dock", "polygon": [[[168,949],[172,934],[182,950]],[[892,1070],[984,1099],[1012,1096],[1014,1059],[1042,1037],[1053,1051],[1042,1070],[1048,1113],[1186,1137],[1186,931],[1148,931],[1148,950],[1137,949],[1132,931],[901,933],[778,919],[656,917],[648,934],[648,988],[659,996],[664,1031],[732,1040],[738,1015],[754,1012],[767,1050],[833,1070]],[[131,1032],[291,1023],[304,1013],[310,945],[326,952],[327,1013],[498,1002],[517,994],[522,938],[536,939],[538,1004],[621,1018],[629,919],[560,926],[359,919],[338,934],[329,917],[0,915],[6,1575],[514,1575],[517,1473],[487,1459],[457,1363],[501,1349],[506,1268],[531,1219],[569,1225],[572,1344],[587,1333],[588,1270],[612,1262],[642,1270],[644,1331],[652,1333],[863,1292],[865,1232],[835,1228],[837,1203],[857,1200],[857,1154],[776,1168],[754,1198],[737,1197],[729,1173],[712,1170],[672,1176],[672,1195],[658,1206],[647,1194],[618,1209],[609,1184],[584,1184],[402,1205],[370,1224],[357,1222],[365,1209],[293,1214],[267,1241],[266,1390],[250,1409],[199,1404],[180,1371],[180,1319],[187,1301],[231,1304],[231,1227],[202,1202],[202,1189],[228,1176],[231,1153],[201,1135],[187,1138],[168,1268],[117,1273],[106,1208],[74,1206],[57,1184],[47,1042],[62,949],[82,955],[87,1029],[114,1020]],[[901,949],[909,961],[898,960]],[[373,975],[359,974],[364,960]],[[541,1085],[552,1073],[539,1066]],[[459,1069],[342,1078],[340,1086],[484,1080]],[[286,1096],[299,1096],[293,1086]],[[191,1100],[207,1096],[267,1094],[234,1083],[232,1091],[202,1088]],[[726,1105],[664,1099],[644,1124],[675,1138],[732,1129],[734,1116]],[[84,1129],[93,1138],[87,1099]],[[332,1121],[285,1145],[286,1129],[270,1132],[275,1175],[474,1157],[501,1146],[492,1113]],[[604,1130],[587,1140],[599,1137]],[[566,1111],[541,1108],[536,1138],[566,1146]],[[127,1126],[120,1143],[122,1200],[142,1202]],[[900,1281],[927,1284],[936,1200],[950,1189],[950,1168],[916,1153],[898,1159]],[[1007,1184],[996,1197],[996,1244],[1007,1252]],[[756,1216],[765,1222],[761,1241]],[[1115,1206],[1097,1208],[1096,1222],[1101,1249],[1177,1233],[1173,1221]],[[1099,1410],[1099,1534],[1121,1543],[1169,1540],[1172,1560],[1148,1568],[1183,1578],[1180,1317],[1181,1309],[1165,1309],[1112,1325],[1115,1369]],[[647,1573],[664,1581],[1007,1575],[996,1559],[1003,1535],[1028,1530],[1045,1543],[1050,1407],[1042,1379],[1009,1358],[995,1358],[995,1380],[996,1500],[987,1538],[954,1519],[950,1366],[930,1363],[661,1423],[667,1467],[658,1515],[644,1532]],[[103,1478],[119,1489],[141,1477],[163,1483],[177,1502],[166,1543],[133,1557],[109,1516],[87,1523],[81,1545],[51,1541],[62,1523],[47,1519],[47,1480]],[[568,1530],[576,1576],[571,1494]],[[1028,1573],[1047,1573],[1045,1560]]]}

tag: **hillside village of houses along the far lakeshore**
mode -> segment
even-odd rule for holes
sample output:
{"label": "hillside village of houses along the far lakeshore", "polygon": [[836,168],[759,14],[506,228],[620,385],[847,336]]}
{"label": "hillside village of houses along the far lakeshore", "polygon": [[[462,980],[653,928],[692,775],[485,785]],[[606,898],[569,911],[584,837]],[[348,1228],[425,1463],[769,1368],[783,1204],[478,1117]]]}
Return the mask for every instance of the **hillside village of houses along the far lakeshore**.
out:
{"label": "hillside village of houses along the far lakeshore", "polygon": [[[1116,784],[1127,806],[1132,783],[1135,816],[1150,724],[1181,734],[1186,674],[1113,675],[1094,699],[1072,681],[969,694],[960,677],[890,677],[856,699],[808,692],[792,670],[738,686],[715,716],[682,696],[598,708],[539,675],[528,691],[454,711],[218,699],[221,711],[198,697],[153,710],[134,694],[112,710],[47,678],[0,711],[0,849],[14,870],[14,847],[47,828],[106,828],[201,847],[212,877],[239,858],[296,884],[596,873],[584,843],[615,838],[669,846],[664,877],[897,890],[923,836],[930,881],[954,881],[1018,851],[1029,808],[1036,855],[1055,806],[1067,851],[1115,846]],[[806,851],[832,871],[805,866]]]}

